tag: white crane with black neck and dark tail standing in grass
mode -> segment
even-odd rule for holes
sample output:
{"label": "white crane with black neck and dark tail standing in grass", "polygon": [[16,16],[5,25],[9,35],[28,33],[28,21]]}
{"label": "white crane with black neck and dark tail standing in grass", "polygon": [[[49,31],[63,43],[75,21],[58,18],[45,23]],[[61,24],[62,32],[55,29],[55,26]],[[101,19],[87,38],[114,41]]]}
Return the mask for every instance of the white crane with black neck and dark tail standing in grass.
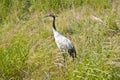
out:
{"label": "white crane with black neck and dark tail standing in grass", "polygon": [[53,18],[52,29],[53,29],[53,34],[54,34],[54,38],[55,38],[55,42],[57,44],[57,47],[59,48],[59,50],[61,52],[64,52],[64,53],[67,52],[73,58],[73,61],[74,61],[74,59],[76,58],[75,47],[68,38],[66,38],[65,36],[63,36],[62,34],[60,34],[57,31],[57,29],[55,27],[56,15],[54,13],[51,13],[45,17],[52,17]]}

